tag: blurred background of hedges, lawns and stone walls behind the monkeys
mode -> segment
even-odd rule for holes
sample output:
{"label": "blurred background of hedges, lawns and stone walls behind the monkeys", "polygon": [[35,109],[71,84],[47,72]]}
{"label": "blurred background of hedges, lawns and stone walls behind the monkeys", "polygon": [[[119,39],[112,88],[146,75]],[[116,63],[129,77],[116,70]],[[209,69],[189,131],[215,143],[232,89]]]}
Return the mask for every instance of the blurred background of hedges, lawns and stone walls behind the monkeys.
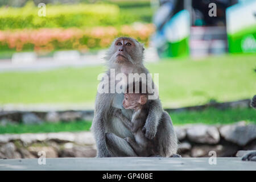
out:
{"label": "blurred background of hedges, lawns and stone walls behind the monkeys", "polygon": [[256,150],[255,1],[0,0],[0,158],[95,155],[83,132],[118,36],[144,43],[180,154]]}

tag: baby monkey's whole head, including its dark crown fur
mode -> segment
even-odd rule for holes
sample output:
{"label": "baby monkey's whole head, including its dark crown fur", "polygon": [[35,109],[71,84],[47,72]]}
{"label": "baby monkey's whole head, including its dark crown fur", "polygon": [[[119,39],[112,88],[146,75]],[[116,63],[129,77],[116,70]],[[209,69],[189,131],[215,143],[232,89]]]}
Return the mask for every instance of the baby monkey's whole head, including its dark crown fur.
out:
{"label": "baby monkey's whole head, including its dark crown fur", "polygon": [[142,93],[142,83],[139,82],[139,92],[135,92],[135,83],[133,83],[133,92],[129,92],[129,86],[127,87],[127,93],[123,99],[123,107],[125,109],[140,109],[147,103],[147,92]]}

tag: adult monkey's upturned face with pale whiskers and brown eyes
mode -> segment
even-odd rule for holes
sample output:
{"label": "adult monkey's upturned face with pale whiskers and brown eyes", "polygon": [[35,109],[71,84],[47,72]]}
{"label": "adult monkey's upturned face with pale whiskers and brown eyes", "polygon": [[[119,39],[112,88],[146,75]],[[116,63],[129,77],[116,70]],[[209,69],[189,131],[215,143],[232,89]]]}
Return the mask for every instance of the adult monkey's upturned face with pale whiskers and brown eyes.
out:
{"label": "adult monkey's upturned face with pale whiskers and brown eyes", "polygon": [[143,46],[135,39],[118,38],[109,49],[109,60],[117,64],[136,64],[143,59]]}

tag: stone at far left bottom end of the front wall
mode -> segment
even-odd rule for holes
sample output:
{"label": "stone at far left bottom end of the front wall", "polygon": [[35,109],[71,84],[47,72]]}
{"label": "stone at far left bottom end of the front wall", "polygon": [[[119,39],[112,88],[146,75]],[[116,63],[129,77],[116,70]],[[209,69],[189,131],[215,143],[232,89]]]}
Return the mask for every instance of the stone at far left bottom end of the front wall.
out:
{"label": "stone at far left bottom end of the front wall", "polygon": [[2,153],[3,156],[7,159],[20,159],[21,156],[19,152],[16,151],[16,147],[14,143],[6,143],[0,148],[0,152]]}

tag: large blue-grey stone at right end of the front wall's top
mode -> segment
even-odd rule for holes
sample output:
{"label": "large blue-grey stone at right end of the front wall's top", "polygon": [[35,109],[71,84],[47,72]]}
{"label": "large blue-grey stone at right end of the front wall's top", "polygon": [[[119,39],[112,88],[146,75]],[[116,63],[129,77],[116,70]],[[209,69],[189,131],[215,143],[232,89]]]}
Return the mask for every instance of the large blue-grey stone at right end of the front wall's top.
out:
{"label": "large blue-grey stone at right end of the front wall's top", "polygon": [[233,125],[225,125],[220,127],[220,134],[225,140],[245,146],[251,140],[256,139],[256,125],[246,122],[238,122]]}

